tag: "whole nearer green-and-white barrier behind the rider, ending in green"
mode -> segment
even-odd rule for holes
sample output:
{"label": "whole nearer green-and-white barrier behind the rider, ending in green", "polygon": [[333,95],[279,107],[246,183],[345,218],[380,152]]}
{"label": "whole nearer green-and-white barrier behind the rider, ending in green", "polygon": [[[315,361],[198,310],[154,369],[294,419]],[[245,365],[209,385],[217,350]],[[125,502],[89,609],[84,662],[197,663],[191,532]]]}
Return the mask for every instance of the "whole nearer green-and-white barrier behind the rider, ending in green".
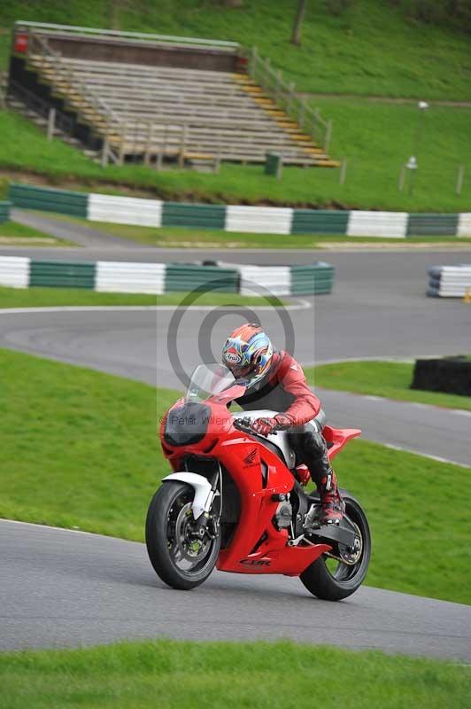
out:
{"label": "whole nearer green-and-white barrier behind the rider, ending in green", "polygon": [[196,263],[67,262],[0,256],[0,285],[49,286],[99,292],[227,292],[313,295],[331,292],[334,268],[310,266],[203,266]]}

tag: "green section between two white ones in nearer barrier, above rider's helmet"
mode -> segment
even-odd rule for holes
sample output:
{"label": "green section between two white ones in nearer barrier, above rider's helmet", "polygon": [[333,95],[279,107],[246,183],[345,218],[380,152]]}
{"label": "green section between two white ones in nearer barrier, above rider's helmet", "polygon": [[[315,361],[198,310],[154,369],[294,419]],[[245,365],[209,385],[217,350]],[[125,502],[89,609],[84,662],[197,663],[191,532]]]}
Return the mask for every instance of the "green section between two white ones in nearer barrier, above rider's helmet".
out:
{"label": "green section between two white ones in nearer barrier, above rider's helmet", "polygon": [[165,292],[228,292],[239,291],[239,274],[235,269],[197,266],[191,263],[171,263],[166,267]]}

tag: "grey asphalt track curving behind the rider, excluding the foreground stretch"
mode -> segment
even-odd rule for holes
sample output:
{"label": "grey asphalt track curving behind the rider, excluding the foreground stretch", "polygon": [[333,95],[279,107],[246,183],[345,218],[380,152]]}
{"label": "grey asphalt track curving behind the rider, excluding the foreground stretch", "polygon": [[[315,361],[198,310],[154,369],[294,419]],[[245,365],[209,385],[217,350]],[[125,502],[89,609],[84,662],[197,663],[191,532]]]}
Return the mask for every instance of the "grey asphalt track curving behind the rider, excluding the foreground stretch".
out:
{"label": "grey asphalt track curving behind the rider, excluding the foreground stretch", "polygon": [[[168,256],[157,253],[154,258]],[[226,261],[242,255],[220,253]],[[272,255],[258,253],[265,260]],[[424,297],[427,267],[444,258],[456,263],[467,256],[409,253],[405,259],[403,253],[329,253],[337,271],[335,292],[304,299],[311,307],[298,306],[284,316],[271,308],[218,309],[215,313],[211,308],[0,311],[0,346],[175,388],[183,386],[197,362],[219,359],[222,341],[241,316],[259,317],[279,346],[290,347],[303,363],[466,353],[471,351],[471,308],[460,300]],[[290,259],[302,261],[305,254],[291,253]],[[180,323],[175,322],[178,314]],[[169,341],[180,364],[168,353]],[[367,439],[471,464],[467,412],[348,393],[319,393],[333,425],[359,426]]]}

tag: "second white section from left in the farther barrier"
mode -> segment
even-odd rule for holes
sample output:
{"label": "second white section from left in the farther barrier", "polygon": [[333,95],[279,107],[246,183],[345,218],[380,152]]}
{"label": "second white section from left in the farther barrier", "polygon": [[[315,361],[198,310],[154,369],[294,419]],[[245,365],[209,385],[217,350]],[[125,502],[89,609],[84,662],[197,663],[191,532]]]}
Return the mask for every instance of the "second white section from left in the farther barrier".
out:
{"label": "second white section from left in the farther barrier", "polygon": [[293,210],[277,206],[237,206],[226,209],[226,231],[290,234]]}

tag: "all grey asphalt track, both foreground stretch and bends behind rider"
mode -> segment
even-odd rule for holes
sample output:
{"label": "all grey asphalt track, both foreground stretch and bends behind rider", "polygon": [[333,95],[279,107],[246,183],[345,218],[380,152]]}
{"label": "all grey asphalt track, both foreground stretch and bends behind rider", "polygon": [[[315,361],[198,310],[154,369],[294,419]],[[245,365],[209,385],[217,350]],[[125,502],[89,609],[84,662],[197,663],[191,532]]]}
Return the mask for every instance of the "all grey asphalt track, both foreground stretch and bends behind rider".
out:
{"label": "all grey asphalt track, both foreground stretch and bends behind rider", "polygon": [[[126,255],[120,251],[132,260],[129,253],[133,250]],[[155,261],[177,260],[173,253],[146,253]],[[108,250],[106,257],[112,260],[115,254]],[[220,257],[262,263],[281,258],[270,252]],[[284,262],[306,258],[292,252],[282,257]],[[310,258],[335,263],[337,284],[335,293],[316,298],[314,305],[313,299],[305,299],[313,307],[286,313],[301,362],[470,351],[471,308],[456,300],[424,297],[427,267],[468,261],[466,253],[408,253],[405,258],[400,253],[322,252]],[[180,252],[179,260],[189,261],[190,256]],[[179,375],[184,378],[198,361],[207,361],[210,350],[216,359],[228,329],[240,322],[241,312],[248,316],[241,308],[235,311],[178,311],[178,327],[174,308],[0,311],[0,347],[181,388]],[[290,327],[286,322],[283,326],[280,314],[268,309],[252,315],[284,347]],[[179,366],[174,358],[169,361],[168,332]],[[321,392],[321,399],[334,425],[358,425],[366,438],[471,462],[471,417],[464,413],[333,392]],[[290,637],[471,661],[471,609],[464,605],[374,588],[327,604],[309,596],[298,580],[223,573],[214,573],[187,594],[165,588],[143,546],[133,542],[10,522],[0,523],[0,537],[4,649],[161,635]]]}

